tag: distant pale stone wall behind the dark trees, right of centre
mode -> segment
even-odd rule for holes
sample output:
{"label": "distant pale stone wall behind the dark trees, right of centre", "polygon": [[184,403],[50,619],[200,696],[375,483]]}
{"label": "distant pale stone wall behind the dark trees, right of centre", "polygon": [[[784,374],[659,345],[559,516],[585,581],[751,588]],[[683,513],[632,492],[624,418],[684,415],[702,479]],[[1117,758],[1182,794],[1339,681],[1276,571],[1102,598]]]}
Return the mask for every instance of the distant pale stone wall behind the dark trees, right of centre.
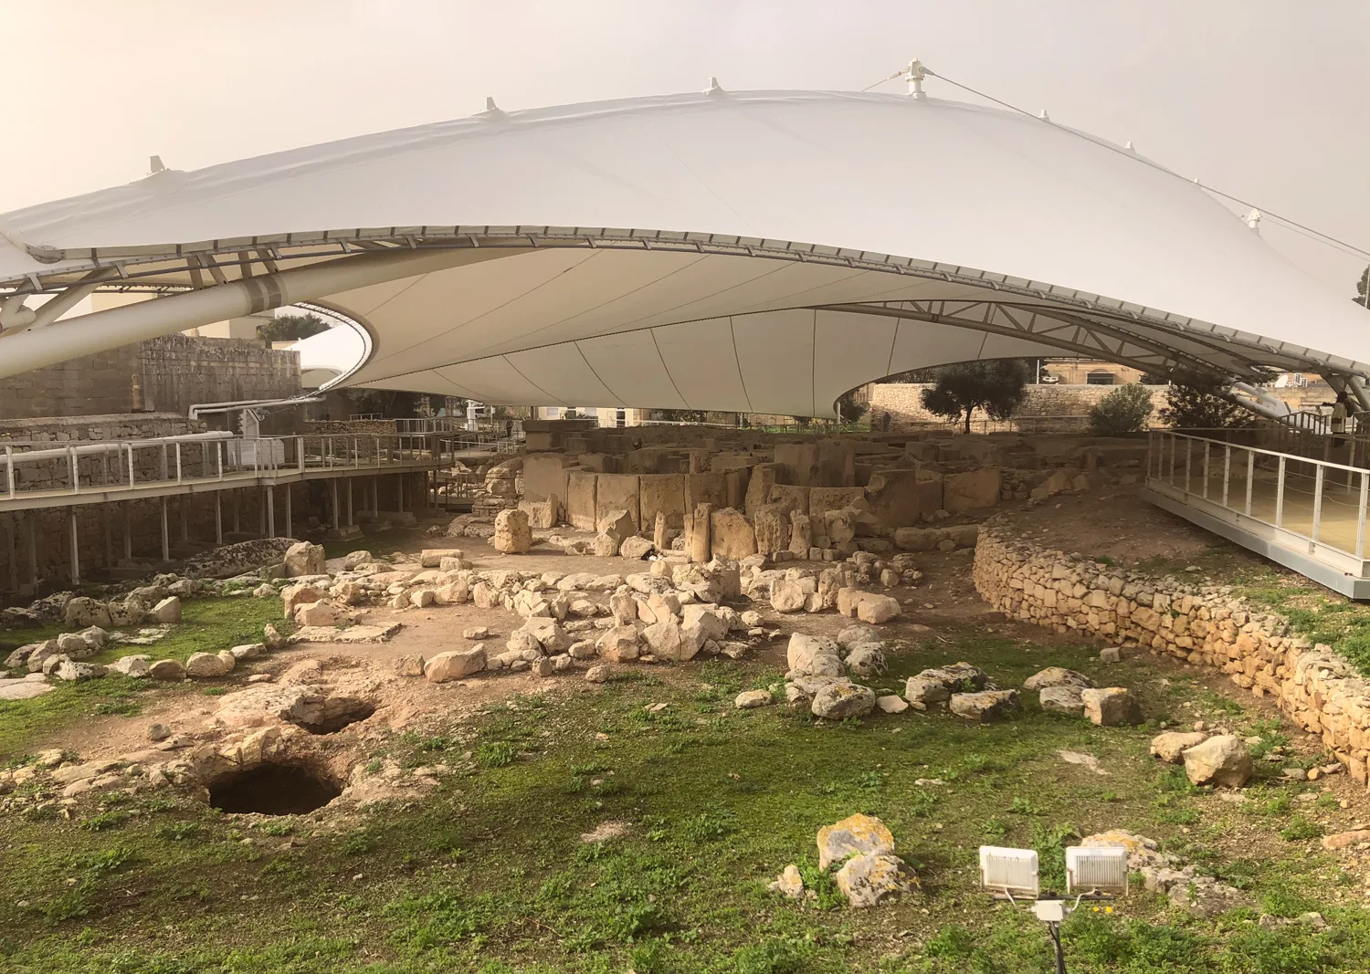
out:
{"label": "distant pale stone wall behind the dark trees, right of centre", "polygon": [[[870,422],[873,427],[880,426],[882,412],[891,418],[892,430],[906,430],[926,426],[954,426],[941,416],[933,415],[923,408],[922,392],[930,389],[930,384],[885,384],[873,385],[870,389]],[[1166,392],[1170,386],[1149,385],[1151,404],[1159,410],[1166,404]],[[977,411],[971,416],[971,429],[981,432],[1014,432],[1023,433],[1075,433],[1089,427],[1089,410],[1097,405],[1099,400],[1110,392],[1118,389],[1115,385],[1030,385],[1022,405],[1014,412],[1014,418],[1003,422],[989,419],[984,412]],[[1067,418],[1049,422],[1045,418]],[[1155,421],[1155,414],[1152,414]]]}

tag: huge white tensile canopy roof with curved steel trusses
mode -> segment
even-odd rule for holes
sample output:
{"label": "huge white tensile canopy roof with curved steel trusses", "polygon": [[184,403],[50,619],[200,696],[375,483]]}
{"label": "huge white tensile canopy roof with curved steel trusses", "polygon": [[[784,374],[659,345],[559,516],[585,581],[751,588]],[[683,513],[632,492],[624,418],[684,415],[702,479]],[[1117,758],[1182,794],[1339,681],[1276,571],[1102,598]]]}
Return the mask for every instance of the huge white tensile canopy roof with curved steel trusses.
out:
{"label": "huge white tensile canopy roof with curved steel trusses", "polygon": [[[364,333],[338,385],[495,404],[830,416],[867,381],[1006,356],[1370,374],[1370,315],[1201,188],[923,97],[490,107],[155,171],[0,233],[0,377],[289,304]],[[97,288],[163,296],[51,323]]]}

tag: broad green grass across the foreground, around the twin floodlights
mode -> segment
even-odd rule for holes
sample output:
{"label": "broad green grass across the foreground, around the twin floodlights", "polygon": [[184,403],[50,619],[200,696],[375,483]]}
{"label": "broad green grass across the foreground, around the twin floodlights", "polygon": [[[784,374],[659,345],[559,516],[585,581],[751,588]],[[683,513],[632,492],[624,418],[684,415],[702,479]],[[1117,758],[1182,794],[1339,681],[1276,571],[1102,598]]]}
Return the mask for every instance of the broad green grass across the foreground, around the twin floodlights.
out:
{"label": "broad green grass across the foreground, around the twin floodlights", "polygon": [[[1103,675],[1086,647],[948,636],[893,655],[896,671],[880,682],[956,659],[1000,685],[1049,664]],[[1144,663],[1107,673],[1126,675],[1149,715],[1217,705]],[[1262,767],[1254,800],[1237,807],[1158,766],[1147,755],[1154,727],[1095,727],[1043,712],[1030,696],[997,725],[906,714],[832,726],[784,707],[734,711],[740,689],[777,678],[758,663],[674,675],[644,667],[593,692],[516,697],[393,737],[375,760],[447,766],[441,786],[349,815],[338,832],[290,818],[248,826],[167,793],[85,808],[71,822],[8,816],[0,969],[1038,974],[1051,969],[1041,925],[975,890],[975,847],[1036,848],[1044,881],[1059,884],[1062,848],[1110,827],[1159,838],[1249,890],[1252,907],[1197,922],[1138,889],[1112,914],[1086,908],[1066,925],[1073,973],[1370,966],[1370,918],[1351,906],[1360,882],[1312,836],[1354,812],[1292,811],[1297,786],[1270,781],[1277,769]],[[647,703],[669,707],[649,714]],[[1259,712],[1226,719],[1238,733],[1274,733]],[[1066,764],[1060,748],[1095,755],[1108,775]],[[918,893],[851,911],[818,871],[815,832],[858,811],[889,825]],[[608,821],[627,834],[581,841]],[[817,900],[764,889],[790,862]],[[1262,908],[1319,910],[1330,927],[1263,930]]]}

